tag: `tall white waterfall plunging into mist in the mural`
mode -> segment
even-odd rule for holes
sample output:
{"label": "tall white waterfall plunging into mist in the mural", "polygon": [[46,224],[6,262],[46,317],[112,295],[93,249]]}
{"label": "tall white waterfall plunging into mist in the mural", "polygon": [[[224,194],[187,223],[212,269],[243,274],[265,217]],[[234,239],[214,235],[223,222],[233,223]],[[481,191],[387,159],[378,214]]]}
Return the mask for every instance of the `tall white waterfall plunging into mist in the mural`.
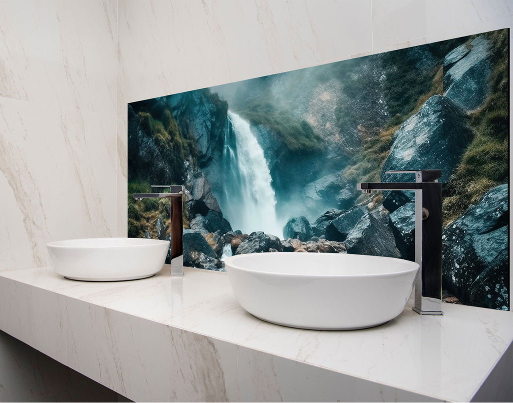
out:
{"label": "tall white waterfall plunging into mist in the mural", "polygon": [[231,124],[223,151],[223,214],[234,230],[246,234],[264,231],[281,238],[271,174],[262,147],[251,133],[249,122],[233,112],[228,112],[228,118]]}

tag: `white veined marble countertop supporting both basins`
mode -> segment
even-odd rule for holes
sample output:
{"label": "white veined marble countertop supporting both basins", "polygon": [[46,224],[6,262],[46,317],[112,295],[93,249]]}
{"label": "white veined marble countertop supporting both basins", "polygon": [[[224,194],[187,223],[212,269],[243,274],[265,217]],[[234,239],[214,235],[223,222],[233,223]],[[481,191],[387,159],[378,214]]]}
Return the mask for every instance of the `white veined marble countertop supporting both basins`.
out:
{"label": "white veined marble countertop supporting both basins", "polygon": [[50,267],[0,273],[2,330],[133,400],[469,401],[510,384],[513,314],[443,310],[301,330],[245,312],[222,272],[110,283]]}

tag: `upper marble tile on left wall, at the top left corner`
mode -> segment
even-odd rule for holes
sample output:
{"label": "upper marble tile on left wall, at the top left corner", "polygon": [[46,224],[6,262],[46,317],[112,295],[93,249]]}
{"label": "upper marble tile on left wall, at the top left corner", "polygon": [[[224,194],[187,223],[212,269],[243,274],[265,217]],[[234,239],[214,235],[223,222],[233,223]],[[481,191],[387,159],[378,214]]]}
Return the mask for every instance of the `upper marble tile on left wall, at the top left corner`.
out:
{"label": "upper marble tile on left wall, at the top left corner", "polygon": [[0,96],[115,115],[116,2],[0,3]]}

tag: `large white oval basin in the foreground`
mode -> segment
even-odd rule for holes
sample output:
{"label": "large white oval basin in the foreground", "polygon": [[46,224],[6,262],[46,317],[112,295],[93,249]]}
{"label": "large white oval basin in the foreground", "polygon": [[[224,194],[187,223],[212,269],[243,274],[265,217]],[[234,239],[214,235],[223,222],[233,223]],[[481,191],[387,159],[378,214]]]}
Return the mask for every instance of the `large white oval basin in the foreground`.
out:
{"label": "large white oval basin in the foreground", "polygon": [[349,330],[399,315],[419,265],[345,253],[248,253],[225,260],[241,306],[267,322],[303,329]]}

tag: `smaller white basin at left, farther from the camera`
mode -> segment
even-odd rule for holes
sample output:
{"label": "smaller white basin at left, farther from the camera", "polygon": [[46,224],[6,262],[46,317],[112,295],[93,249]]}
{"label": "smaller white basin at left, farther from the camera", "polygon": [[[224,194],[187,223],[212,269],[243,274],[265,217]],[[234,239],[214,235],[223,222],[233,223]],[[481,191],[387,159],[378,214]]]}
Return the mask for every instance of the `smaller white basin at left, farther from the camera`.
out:
{"label": "smaller white basin at left, farther from the camera", "polygon": [[54,270],[72,280],[120,281],[150,277],[162,269],[169,241],[89,238],[46,245]]}

